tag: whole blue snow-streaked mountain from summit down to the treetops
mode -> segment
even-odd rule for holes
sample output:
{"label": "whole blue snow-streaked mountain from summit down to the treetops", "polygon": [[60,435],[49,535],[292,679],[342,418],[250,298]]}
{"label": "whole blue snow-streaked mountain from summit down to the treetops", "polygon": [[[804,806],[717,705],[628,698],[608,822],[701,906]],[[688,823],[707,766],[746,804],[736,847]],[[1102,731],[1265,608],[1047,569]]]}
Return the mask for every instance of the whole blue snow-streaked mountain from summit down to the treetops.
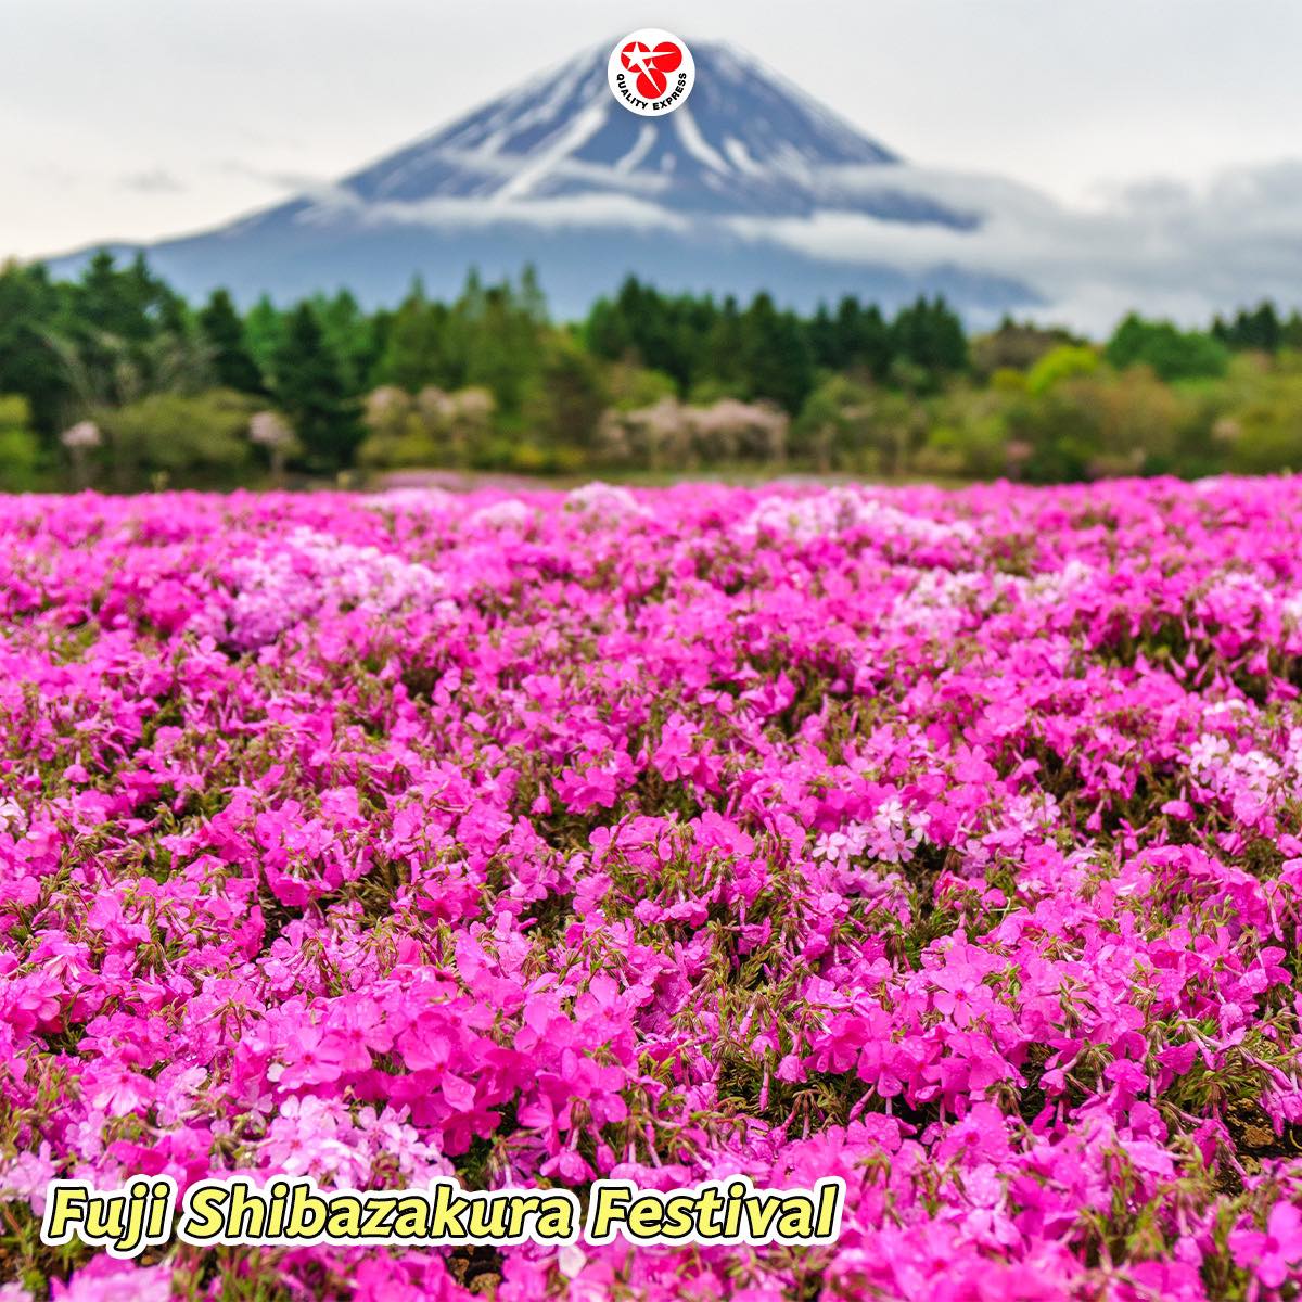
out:
{"label": "whole blue snow-streaked mountain from summit down to the treetops", "polygon": [[[560,316],[630,272],[803,309],[943,293],[978,322],[1043,301],[965,262],[988,217],[980,186],[910,168],[749,56],[691,51],[695,87],[665,117],[625,109],[594,49],[333,185],[215,230],[109,247],[143,251],[186,294],[225,285],[245,302],[348,286],[392,303],[415,275],[445,297],[471,266],[496,279],[530,262]],[[73,272],[87,255],[51,266]]]}

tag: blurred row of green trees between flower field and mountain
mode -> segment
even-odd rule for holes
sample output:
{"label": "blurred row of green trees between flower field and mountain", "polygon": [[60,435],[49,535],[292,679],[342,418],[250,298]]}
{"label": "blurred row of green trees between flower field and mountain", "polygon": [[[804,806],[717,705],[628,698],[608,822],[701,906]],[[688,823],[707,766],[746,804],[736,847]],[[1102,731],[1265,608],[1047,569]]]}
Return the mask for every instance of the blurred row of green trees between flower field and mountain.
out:
{"label": "blurred row of green trees between flower field and mountain", "polygon": [[1302,318],[1129,316],[1105,345],[940,299],[811,315],[630,277],[556,323],[534,273],[393,309],[191,305],[142,259],[0,268],[0,486],[320,482],[405,467],[809,469],[1048,482],[1302,469]]}

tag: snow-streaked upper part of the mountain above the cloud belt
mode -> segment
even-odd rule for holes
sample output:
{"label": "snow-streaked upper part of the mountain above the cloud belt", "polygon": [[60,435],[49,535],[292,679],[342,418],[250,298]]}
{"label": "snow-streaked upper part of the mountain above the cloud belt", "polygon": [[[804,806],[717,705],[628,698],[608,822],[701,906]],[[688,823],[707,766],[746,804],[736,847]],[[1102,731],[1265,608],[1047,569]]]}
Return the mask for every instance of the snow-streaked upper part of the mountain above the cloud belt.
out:
{"label": "snow-streaked upper part of the mountain above the cloud belt", "polygon": [[[348,177],[346,198],[389,216],[431,201],[521,204],[624,197],[678,215],[809,214],[850,206],[885,220],[970,227],[973,214],[889,184],[900,160],[758,61],[691,43],[691,98],[661,118],[611,95],[591,49]],[[410,215],[410,214],[409,214]]]}

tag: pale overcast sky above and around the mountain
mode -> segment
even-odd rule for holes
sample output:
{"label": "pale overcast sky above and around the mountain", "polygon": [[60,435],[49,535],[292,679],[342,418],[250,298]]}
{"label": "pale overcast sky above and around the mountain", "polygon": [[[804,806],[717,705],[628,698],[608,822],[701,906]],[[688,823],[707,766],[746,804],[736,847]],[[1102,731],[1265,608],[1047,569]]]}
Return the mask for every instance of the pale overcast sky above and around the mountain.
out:
{"label": "pale overcast sky above and around the mountain", "polygon": [[217,224],[648,25],[1070,204],[1302,158],[1299,0],[0,0],[0,256]]}

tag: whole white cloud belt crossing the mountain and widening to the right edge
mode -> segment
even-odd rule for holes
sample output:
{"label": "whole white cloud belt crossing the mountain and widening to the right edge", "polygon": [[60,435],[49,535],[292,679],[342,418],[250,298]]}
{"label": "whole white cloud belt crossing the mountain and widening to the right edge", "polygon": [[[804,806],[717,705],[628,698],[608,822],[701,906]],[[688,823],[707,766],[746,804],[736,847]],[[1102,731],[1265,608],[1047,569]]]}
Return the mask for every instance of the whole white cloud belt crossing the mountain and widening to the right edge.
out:
{"label": "whole white cloud belt crossing the mountain and widening to the right edge", "polygon": [[1135,307],[1204,326],[1215,311],[1260,298],[1289,307],[1302,301],[1302,161],[1238,168],[1200,186],[1154,178],[1099,187],[1094,201],[1081,206],[1000,177],[907,164],[837,168],[806,181],[842,197],[927,195],[952,211],[983,214],[984,221],[958,230],[832,207],[810,217],[703,219],[651,198],[600,191],[366,203],[346,186],[320,182],[301,191],[312,202],[297,220],[320,224],[350,216],[371,227],[461,229],[509,221],[684,234],[721,221],[743,238],[776,241],[828,260],[911,271],[949,264],[1008,276],[1043,296],[1046,306],[1034,315],[1092,335],[1109,332]]}

